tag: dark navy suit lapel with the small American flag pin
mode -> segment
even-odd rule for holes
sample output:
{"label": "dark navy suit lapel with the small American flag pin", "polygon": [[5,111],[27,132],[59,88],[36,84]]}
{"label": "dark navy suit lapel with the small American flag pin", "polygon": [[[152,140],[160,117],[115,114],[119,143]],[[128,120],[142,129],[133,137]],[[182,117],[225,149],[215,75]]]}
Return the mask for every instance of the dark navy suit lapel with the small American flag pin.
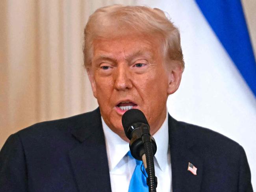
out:
{"label": "dark navy suit lapel with the small American flag pin", "polygon": [[[202,180],[203,162],[193,140],[184,127],[169,116],[169,144],[171,149],[173,192],[199,192]],[[197,175],[187,170],[191,162],[197,168]]]}

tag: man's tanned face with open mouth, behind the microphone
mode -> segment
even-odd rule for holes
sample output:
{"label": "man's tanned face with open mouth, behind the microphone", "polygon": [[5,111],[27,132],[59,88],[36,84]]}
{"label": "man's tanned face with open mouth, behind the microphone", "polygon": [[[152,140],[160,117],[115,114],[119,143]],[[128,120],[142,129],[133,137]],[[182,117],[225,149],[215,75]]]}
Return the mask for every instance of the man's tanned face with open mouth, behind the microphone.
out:
{"label": "man's tanned face with open mouth, behind the microphone", "polygon": [[173,70],[167,70],[160,42],[134,34],[98,39],[93,45],[92,65],[87,71],[106,124],[127,140],[122,115],[128,109],[140,109],[154,134],[165,119],[168,95],[178,88],[173,85]]}

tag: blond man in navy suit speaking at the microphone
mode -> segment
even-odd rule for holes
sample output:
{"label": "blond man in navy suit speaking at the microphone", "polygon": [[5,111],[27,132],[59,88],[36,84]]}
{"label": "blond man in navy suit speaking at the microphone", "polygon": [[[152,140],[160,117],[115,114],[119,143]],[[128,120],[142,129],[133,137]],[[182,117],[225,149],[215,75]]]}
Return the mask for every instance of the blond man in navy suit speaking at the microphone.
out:
{"label": "blond man in navy suit speaking at the microphone", "polygon": [[11,135],[0,153],[1,192],[128,191],[135,160],[121,117],[132,108],[143,111],[156,139],[158,191],[252,191],[239,144],[167,113],[184,62],[163,11],[96,10],[85,27],[84,63],[99,108]]}

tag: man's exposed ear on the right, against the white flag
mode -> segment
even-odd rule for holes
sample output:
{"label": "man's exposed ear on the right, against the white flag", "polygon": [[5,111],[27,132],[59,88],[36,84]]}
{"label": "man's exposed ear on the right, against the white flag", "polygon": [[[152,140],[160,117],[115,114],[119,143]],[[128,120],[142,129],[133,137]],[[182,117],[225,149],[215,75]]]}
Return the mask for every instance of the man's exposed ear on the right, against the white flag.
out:
{"label": "man's exposed ear on the right, against the white flag", "polygon": [[172,63],[171,67],[168,69],[169,75],[169,85],[167,93],[173,94],[180,86],[180,81],[182,77],[183,68],[179,63]]}

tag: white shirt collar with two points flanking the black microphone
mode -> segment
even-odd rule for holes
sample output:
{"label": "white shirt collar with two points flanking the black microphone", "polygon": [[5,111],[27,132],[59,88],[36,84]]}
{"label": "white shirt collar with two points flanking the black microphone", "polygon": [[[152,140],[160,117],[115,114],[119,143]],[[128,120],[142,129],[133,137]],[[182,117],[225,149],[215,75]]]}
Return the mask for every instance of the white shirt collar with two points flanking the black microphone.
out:
{"label": "white shirt collar with two points flanking the black microphone", "polygon": [[[106,142],[106,149],[107,149],[107,155],[108,155],[108,165],[109,165],[109,171],[112,171],[115,166],[121,161],[121,159],[126,155],[126,153],[130,150],[129,143],[122,140],[119,135],[114,133],[104,122],[103,118],[102,120],[102,127],[105,135],[105,142]],[[163,169],[166,167],[165,165],[167,162],[167,152],[168,152],[168,146],[169,146],[169,136],[168,136],[168,111],[166,112],[165,120],[156,131],[156,133],[153,135],[156,144],[157,144],[157,151],[155,154],[156,161],[158,165],[160,166],[160,169],[163,171]]]}

